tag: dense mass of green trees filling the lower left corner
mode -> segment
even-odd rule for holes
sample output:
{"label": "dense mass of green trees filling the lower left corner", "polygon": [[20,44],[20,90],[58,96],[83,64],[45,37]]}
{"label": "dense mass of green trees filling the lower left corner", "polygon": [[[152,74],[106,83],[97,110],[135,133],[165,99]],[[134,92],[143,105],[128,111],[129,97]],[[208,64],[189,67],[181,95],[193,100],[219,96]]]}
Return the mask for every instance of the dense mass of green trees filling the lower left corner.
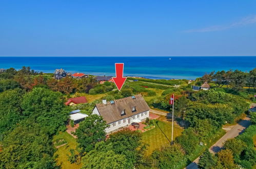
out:
{"label": "dense mass of green trees filling the lower left corner", "polygon": [[62,94],[45,88],[0,93],[0,168],[53,168],[52,136],[68,119]]}

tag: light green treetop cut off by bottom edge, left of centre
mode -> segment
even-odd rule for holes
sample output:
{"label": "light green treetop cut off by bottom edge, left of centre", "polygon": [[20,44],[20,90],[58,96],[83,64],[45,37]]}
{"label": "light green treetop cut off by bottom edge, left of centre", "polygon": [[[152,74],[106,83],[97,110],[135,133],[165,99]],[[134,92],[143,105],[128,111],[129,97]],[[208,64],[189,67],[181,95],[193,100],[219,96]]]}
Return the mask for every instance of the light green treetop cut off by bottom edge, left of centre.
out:
{"label": "light green treetop cut off by bottom edge, left of centre", "polygon": [[128,168],[126,164],[128,159],[125,155],[116,154],[113,149],[111,144],[106,144],[104,141],[96,143],[95,148],[83,157],[82,168]]}

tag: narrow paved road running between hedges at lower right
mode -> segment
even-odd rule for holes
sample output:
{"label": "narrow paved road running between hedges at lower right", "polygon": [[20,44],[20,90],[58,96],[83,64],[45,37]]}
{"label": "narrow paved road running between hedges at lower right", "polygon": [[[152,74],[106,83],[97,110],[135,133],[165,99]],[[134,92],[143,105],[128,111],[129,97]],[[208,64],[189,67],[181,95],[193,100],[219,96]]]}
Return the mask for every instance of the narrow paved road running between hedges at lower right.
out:
{"label": "narrow paved road running between hedges at lower right", "polygon": [[[238,124],[230,126],[230,130],[227,131],[227,133],[220,138],[215,144],[213,144],[209,151],[211,153],[217,153],[222,149],[223,143],[230,138],[237,137],[240,135],[243,130],[248,128],[248,126],[251,124],[250,118],[245,117],[243,120],[241,120]],[[199,162],[200,157],[196,158],[192,163],[190,163],[188,166],[186,166],[187,169],[194,169],[198,168],[198,162]]]}

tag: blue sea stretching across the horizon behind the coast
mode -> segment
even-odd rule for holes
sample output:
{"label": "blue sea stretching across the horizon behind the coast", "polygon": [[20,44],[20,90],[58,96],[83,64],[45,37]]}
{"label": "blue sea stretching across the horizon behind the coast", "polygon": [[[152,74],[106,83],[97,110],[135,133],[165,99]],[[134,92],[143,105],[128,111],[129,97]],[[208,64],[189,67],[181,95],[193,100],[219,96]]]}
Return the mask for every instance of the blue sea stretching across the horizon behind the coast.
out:
{"label": "blue sea stretching across the horizon behind the coast", "polygon": [[[171,58],[171,59],[169,59]],[[63,68],[71,73],[115,76],[115,63],[124,63],[124,76],[154,79],[195,79],[219,70],[250,71],[256,67],[256,56],[227,57],[0,57],[0,68],[53,73]]]}

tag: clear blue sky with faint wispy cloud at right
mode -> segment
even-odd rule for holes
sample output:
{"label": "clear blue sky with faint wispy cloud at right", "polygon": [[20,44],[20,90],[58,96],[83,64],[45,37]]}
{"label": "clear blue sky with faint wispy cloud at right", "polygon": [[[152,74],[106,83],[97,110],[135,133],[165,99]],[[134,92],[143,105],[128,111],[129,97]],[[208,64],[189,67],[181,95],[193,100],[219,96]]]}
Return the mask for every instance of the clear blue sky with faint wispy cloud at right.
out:
{"label": "clear blue sky with faint wispy cloud at right", "polygon": [[256,1],[0,1],[0,56],[256,55]]}

